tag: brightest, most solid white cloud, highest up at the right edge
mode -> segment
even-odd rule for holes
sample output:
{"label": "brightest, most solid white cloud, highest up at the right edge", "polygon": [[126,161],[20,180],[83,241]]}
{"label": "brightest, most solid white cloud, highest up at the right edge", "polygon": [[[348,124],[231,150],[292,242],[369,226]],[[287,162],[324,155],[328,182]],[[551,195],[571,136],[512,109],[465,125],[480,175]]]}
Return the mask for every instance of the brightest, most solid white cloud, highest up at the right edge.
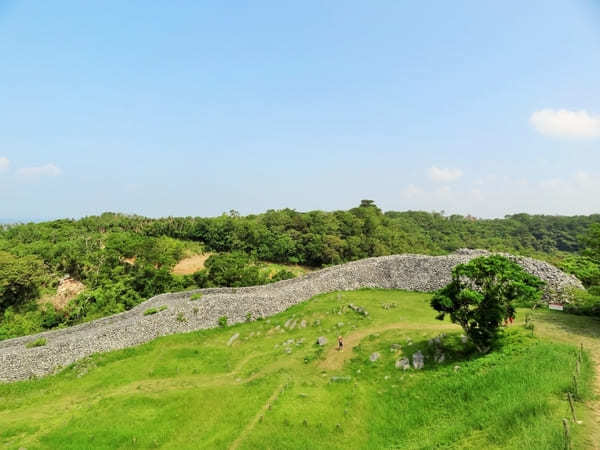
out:
{"label": "brightest, most solid white cloud, highest up at the right edge", "polygon": [[600,137],[600,116],[587,111],[542,109],[534,112],[529,122],[541,134],[562,138]]}

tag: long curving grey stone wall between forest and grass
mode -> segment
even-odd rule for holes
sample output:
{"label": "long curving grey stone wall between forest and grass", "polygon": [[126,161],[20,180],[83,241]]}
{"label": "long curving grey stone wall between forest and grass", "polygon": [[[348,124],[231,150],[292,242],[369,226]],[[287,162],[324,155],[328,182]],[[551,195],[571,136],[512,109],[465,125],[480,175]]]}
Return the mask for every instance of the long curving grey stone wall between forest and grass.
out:
{"label": "long curving grey stone wall between forest and grass", "polygon": [[[450,281],[452,268],[488,254],[481,250],[462,250],[446,256],[393,255],[368,258],[306,274],[265,286],[200,289],[153,297],[135,308],[114,316],[74,327],[52,330],[33,336],[0,341],[0,381],[17,381],[43,376],[97,352],[121,349],[150,341],[158,336],[211,328],[219,317],[229,323],[281,312],[317,294],[363,287],[434,291]],[[575,277],[532,258],[510,256],[528,272],[558,290],[582,287]],[[200,301],[190,301],[202,293]],[[167,306],[165,311],[144,316],[148,308]],[[198,308],[194,313],[193,308]],[[183,314],[186,321],[177,320]],[[38,338],[46,345],[26,348]]]}

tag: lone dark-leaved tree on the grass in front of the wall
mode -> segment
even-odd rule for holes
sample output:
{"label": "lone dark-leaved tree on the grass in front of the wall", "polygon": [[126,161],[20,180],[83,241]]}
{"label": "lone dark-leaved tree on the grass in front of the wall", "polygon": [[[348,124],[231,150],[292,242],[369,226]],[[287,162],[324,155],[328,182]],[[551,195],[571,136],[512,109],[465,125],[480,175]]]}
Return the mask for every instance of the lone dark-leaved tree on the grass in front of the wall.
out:
{"label": "lone dark-leaved tree on the grass in front of the wall", "polygon": [[475,258],[452,270],[452,281],[435,293],[431,306],[440,313],[439,320],[449,315],[486,353],[502,322],[514,315],[512,302],[539,299],[543,284],[503,256]]}

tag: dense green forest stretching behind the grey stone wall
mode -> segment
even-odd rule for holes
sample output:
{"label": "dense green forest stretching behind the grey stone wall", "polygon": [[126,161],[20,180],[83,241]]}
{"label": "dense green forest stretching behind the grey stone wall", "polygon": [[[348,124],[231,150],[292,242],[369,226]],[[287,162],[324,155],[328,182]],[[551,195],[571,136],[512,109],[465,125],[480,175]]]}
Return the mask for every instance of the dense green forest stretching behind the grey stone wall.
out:
{"label": "dense green forest stretching behind the grey stone wall", "polygon": [[[371,200],[348,211],[269,210],[214,218],[151,219],[115,213],[0,229],[0,339],[129,309],[158,293],[243,286],[267,276],[261,261],[323,267],[396,253],[445,254],[485,248],[535,256],[600,284],[600,214],[516,214],[476,219],[418,211],[383,212]],[[210,253],[196,273],[172,273],[185,254]],[[61,308],[45,303],[69,274],[85,290]],[[42,299],[42,300],[40,300]],[[591,304],[588,297],[582,302]]]}

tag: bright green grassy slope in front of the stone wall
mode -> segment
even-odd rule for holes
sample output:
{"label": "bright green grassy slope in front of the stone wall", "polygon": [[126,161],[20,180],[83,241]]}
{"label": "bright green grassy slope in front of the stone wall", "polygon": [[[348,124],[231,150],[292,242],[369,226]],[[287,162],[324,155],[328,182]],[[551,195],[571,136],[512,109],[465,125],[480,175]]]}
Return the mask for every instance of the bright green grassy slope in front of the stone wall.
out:
{"label": "bright green grassy slope in front of the stone wall", "polygon": [[[268,320],[168,336],[0,385],[0,447],[564,448],[577,345],[600,348],[600,322],[540,312],[532,336],[519,311],[500,348],[478,356],[458,327],[434,319],[429,298],[321,295]],[[440,333],[442,343],[430,345]],[[344,352],[334,348],[340,334]],[[417,350],[424,370],[395,368]],[[436,353],[445,361],[434,362]],[[585,352],[573,448],[599,442],[593,364]]]}

